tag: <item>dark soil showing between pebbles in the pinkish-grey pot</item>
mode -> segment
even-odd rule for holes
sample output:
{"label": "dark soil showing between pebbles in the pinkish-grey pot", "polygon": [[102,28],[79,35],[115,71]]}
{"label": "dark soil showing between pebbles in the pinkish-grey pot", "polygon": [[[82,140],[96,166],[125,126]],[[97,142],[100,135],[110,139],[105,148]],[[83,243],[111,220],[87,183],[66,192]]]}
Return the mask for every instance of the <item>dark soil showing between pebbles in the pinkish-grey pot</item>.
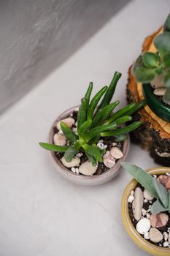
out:
{"label": "dark soil showing between pebbles in the pinkish-grey pot", "polygon": [[[74,111],[72,113],[72,115],[70,115],[70,116],[72,118],[74,118],[75,123],[76,123],[76,121],[77,121],[77,111]],[[69,117],[69,116],[66,116],[66,117]],[[72,126],[72,128],[76,128],[75,124]],[[55,135],[55,133],[58,132],[58,129],[56,127],[53,127],[53,132],[54,132],[54,135]],[[109,138],[108,137],[102,138],[101,137],[100,140],[104,140],[104,142],[103,142],[104,145],[107,145],[106,151],[110,150],[112,148],[112,143],[115,143],[115,138],[114,137],[112,137],[112,138],[110,138],[110,137]],[[117,143],[117,148],[120,148],[123,151],[123,142]],[[82,157],[80,157],[80,159],[81,159],[80,165],[81,165],[83,162],[88,160],[88,157],[86,157],[85,152],[83,150],[81,150],[80,152],[82,153]],[[63,153],[55,152],[55,157],[57,157],[57,159],[60,160],[63,157]],[[116,160],[116,162],[117,162],[117,160]],[[71,170],[71,168],[68,168],[68,170]],[[93,174],[93,176],[104,173],[107,170],[110,170],[110,169],[108,167],[106,167],[102,162],[100,162],[100,163],[98,163],[98,169],[96,170],[96,173]],[[78,175],[83,175],[83,174],[79,173]]]}

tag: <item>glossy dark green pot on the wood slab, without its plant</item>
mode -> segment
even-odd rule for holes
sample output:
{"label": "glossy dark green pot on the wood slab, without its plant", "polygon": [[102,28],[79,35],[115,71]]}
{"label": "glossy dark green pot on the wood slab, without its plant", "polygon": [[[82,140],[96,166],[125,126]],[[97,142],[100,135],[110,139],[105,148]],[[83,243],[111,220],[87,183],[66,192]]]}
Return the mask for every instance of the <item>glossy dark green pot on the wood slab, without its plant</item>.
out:
{"label": "glossy dark green pot on the wood slab, without its plant", "polygon": [[147,105],[150,107],[152,112],[163,120],[170,122],[170,106],[165,105],[155,94],[153,94],[150,83],[143,83],[142,91]]}

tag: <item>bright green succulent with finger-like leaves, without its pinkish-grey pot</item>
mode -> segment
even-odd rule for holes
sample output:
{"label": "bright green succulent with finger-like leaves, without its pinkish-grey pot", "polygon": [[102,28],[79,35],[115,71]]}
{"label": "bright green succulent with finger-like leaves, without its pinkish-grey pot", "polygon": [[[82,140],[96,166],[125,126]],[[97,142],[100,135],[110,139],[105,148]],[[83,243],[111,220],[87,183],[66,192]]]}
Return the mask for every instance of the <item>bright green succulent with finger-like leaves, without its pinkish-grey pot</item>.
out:
{"label": "bright green succulent with finger-like leaves, without its pinkish-grey pot", "polygon": [[[101,137],[114,136],[115,140],[123,141],[126,139],[128,132],[142,124],[140,121],[135,121],[127,127],[122,127],[122,124],[131,121],[131,114],[142,108],[145,104],[144,101],[138,104],[131,103],[113,113],[120,101],[110,102],[120,77],[120,72],[115,72],[110,85],[101,88],[91,100],[90,95],[93,83],[89,84],[77,114],[77,134],[65,123],[61,122],[63,135],[69,140],[71,146],[57,146],[49,143],[39,143],[39,145],[50,151],[64,152],[63,157],[66,162],[71,162],[79,151],[85,151],[86,156],[93,165],[96,165],[97,162],[103,162],[102,155],[105,153],[105,149],[100,149],[96,145]],[[101,97],[103,97],[102,100]]]}

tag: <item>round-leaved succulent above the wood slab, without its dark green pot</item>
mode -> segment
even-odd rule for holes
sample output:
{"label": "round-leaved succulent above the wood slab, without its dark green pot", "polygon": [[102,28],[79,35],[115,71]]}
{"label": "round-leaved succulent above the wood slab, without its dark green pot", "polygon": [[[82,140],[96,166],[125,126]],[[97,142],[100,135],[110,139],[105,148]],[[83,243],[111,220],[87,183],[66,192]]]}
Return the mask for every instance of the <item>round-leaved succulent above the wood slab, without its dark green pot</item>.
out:
{"label": "round-leaved succulent above the wood slab, without its dark green pot", "polygon": [[156,53],[145,52],[136,59],[133,72],[138,82],[150,83],[163,79],[166,93],[163,102],[170,105],[170,14],[163,26],[163,33],[155,37]]}

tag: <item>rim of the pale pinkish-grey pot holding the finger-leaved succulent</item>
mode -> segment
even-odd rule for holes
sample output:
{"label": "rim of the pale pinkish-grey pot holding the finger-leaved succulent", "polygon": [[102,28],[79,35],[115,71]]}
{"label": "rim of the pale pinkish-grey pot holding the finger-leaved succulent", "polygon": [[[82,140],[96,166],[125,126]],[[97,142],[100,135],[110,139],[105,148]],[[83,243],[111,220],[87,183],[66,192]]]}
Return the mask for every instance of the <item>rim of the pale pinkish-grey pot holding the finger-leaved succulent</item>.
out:
{"label": "rim of the pale pinkish-grey pot holding the finger-leaved succulent", "polygon": [[[68,116],[70,113],[72,113],[77,108],[79,108],[79,105],[77,105],[77,106],[75,106],[73,108],[69,108],[68,110],[65,110],[63,113],[61,113],[60,116],[58,116],[58,118],[56,118],[56,120],[53,122],[52,127],[50,128],[50,133],[49,133],[49,142],[50,143],[53,143],[53,127],[55,127],[55,124],[58,121],[60,121],[61,119],[66,118],[66,116]],[[117,167],[120,165],[120,162],[123,161],[127,157],[127,155],[128,155],[129,146],[130,146],[130,138],[129,138],[129,135],[128,135],[127,139],[123,142],[123,157],[118,159],[116,164],[114,165],[114,167],[112,167],[111,169],[105,171],[104,173],[101,173],[101,174],[98,174],[98,175],[94,175],[94,176],[84,176],[84,175],[80,175],[80,174],[77,174],[77,173],[73,173],[72,170],[69,170],[67,167],[65,167],[61,163],[61,161],[58,160],[57,157],[55,157],[55,152],[50,151],[50,154],[52,155],[53,160],[55,161],[55,163],[57,165],[59,165],[66,174],[69,174],[70,176],[74,176],[75,178],[80,178],[80,179],[83,178],[84,180],[87,180],[87,179],[97,179],[99,177],[108,176],[110,173],[114,173],[114,171],[115,171],[115,173],[117,172]]]}

